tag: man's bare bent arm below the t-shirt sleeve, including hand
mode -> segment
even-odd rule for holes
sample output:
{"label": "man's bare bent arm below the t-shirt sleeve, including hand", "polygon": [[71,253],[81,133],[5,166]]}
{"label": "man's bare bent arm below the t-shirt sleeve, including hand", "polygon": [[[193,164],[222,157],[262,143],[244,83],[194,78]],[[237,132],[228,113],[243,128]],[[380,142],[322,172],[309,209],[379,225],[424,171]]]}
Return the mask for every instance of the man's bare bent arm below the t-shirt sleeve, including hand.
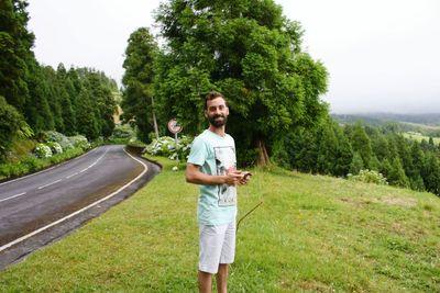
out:
{"label": "man's bare bent arm below the t-shirt sleeve, including hand", "polygon": [[200,171],[200,166],[188,162],[186,165],[186,182],[202,185],[228,184],[237,185],[243,176],[240,172],[231,172],[224,176],[210,176]]}

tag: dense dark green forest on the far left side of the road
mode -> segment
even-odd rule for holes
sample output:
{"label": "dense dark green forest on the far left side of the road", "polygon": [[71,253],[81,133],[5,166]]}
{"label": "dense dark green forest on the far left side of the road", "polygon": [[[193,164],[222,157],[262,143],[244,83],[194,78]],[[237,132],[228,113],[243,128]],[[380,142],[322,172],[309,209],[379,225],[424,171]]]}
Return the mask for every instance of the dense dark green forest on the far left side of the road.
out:
{"label": "dense dark green forest on the far left side of the road", "polygon": [[116,81],[91,68],[41,65],[26,29],[26,5],[0,2],[0,160],[16,137],[56,131],[96,139],[114,128]]}

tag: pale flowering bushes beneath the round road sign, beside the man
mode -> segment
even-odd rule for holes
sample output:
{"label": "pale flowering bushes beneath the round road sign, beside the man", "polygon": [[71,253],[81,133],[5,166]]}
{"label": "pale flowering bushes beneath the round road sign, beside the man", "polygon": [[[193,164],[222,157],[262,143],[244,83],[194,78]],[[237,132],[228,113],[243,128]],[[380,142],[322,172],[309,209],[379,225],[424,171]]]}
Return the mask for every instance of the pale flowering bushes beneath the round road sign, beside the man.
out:
{"label": "pale flowering bushes beneath the round road sign, beside the man", "polygon": [[176,140],[169,136],[162,136],[158,139],[153,139],[153,142],[145,147],[145,151],[152,156],[163,156],[168,157],[172,160],[178,158],[186,159],[189,156],[190,144],[193,137],[183,135]]}

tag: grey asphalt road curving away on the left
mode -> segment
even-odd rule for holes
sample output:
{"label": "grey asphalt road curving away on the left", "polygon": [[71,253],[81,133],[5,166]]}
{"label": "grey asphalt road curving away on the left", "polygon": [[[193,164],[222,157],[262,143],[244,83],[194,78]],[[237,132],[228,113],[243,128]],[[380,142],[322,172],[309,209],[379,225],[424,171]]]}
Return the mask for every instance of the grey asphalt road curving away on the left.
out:
{"label": "grey asphalt road curving away on the left", "polygon": [[[110,205],[129,196],[160,170],[153,164],[139,160],[141,159],[135,160],[129,156],[123,146],[102,146],[54,168],[0,183],[0,247],[92,205],[118,190],[123,189],[118,192],[122,194],[119,200],[112,200],[103,210],[89,211],[90,216],[102,213]],[[105,205],[100,203],[98,207]],[[90,216],[82,216],[85,219],[79,222],[82,223]],[[72,225],[63,225],[68,226],[65,232],[58,232],[56,236],[50,236],[50,239],[40,240],[40,245],[32,246],[38,248],[73,229]],[[32,244],[29,240],[28,243]],[[18,255],[25,255],[31,250],[33,249],[24,249]],[[2,257],[0,253],[0,268]],[[15,260],[19,257],[9,258]],[[10,260],[3,259],[3,262]]]}

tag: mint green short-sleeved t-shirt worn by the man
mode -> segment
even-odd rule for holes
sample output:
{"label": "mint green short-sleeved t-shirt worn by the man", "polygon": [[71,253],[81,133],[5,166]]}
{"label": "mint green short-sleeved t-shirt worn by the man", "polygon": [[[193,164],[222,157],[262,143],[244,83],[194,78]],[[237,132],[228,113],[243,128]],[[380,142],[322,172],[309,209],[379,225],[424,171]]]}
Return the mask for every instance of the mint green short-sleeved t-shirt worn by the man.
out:
{"label": "mint green short-sleeved t-shirt worn by the man", "polygon": [[[200,166],[206,174],[226,174],[237,168],[235,143],[228,134],[220,136],[206,129],[194,139],[188,162]],[[237,188],[200,185],[197,216],[199,224],[210,226],[235,221]]]}

